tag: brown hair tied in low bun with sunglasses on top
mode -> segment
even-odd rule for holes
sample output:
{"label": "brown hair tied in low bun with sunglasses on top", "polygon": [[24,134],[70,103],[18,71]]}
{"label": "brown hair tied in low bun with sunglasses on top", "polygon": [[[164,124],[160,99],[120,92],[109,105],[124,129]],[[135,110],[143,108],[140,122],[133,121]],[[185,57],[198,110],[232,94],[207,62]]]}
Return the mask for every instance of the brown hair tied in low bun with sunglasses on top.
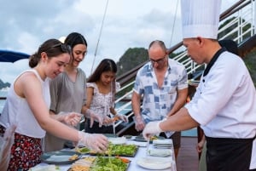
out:
{"label": "brown hair tied in low bun with sunglasses on top", "polygon": [[45,52],[48,58],[56,57],[63,53],[70,54],[70,47],[61,43],[58,39],[52,38],[46,40],[41,46],[39,46],[38,51],[29,57],[28,65],[32,68],[38,66],[41,60],[41,53]]}

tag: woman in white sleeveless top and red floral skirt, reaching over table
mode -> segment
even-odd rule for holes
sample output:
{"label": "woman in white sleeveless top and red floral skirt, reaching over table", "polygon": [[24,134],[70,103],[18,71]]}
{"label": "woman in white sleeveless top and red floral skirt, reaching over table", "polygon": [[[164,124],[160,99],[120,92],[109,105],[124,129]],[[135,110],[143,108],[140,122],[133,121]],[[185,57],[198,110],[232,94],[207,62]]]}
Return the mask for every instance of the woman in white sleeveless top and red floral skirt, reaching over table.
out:
{"label": "woman in white sleeveless top and red floral skirt, reaching over table", "polygon": [[2,136],[6,128],[16,125],[8,170],[28,170],[40,162],[45,131],[96,151],[107,149],[108,139],[102,134],[86,134],[61,123],[75,125],[80,114],[49,115],[49,79],[64,71],[69,60],[70,47],[49,39],[30,57],[32,69],[23,71],[12,84],[0,117]]}

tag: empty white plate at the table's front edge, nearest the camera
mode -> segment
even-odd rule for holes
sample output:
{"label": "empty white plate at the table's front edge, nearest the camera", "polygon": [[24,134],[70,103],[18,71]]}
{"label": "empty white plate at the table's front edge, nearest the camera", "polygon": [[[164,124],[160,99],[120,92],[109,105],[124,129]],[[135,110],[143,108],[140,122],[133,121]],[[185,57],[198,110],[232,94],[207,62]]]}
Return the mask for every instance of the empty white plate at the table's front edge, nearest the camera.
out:
{"label": "empty white plate at the table's front edge, nearest the camera", "polygon": [[137,159],[137,165],[151,170],[160,170],[172,167],[170,159],[160,157],[143,157]]}

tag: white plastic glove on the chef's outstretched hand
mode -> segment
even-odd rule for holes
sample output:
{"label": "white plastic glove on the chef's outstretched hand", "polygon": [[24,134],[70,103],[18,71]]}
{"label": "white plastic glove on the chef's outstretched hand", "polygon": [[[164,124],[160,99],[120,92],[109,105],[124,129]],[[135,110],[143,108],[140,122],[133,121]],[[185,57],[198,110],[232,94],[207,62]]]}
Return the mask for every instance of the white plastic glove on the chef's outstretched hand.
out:
{"label": "white plastic glove on the chef's outstretched hand", "polygon": [[149,140],[151,136],[154,134],[159,134],[163,132],[163,130],[160,128],[161,121],[154,121],[150,122],[146,125],[146,127],[143,130],[143,137],[146,140]]}

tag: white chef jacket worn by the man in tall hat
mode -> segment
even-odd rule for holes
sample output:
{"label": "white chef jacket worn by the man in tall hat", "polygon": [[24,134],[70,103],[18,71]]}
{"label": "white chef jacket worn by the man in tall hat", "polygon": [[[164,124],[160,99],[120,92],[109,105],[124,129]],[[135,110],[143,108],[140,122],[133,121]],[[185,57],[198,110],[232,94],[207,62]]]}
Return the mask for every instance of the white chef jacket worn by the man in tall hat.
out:
{"label": "white chef jacket worn by the man in tall hat", "polygon": [[[185,107],[209,137],[248,139],[256,134],[256,92],[247,67],[236,54],[225,51],[219,55]],[[254,161],[256,168],[256,149],[252,154],[251,167]]]}

